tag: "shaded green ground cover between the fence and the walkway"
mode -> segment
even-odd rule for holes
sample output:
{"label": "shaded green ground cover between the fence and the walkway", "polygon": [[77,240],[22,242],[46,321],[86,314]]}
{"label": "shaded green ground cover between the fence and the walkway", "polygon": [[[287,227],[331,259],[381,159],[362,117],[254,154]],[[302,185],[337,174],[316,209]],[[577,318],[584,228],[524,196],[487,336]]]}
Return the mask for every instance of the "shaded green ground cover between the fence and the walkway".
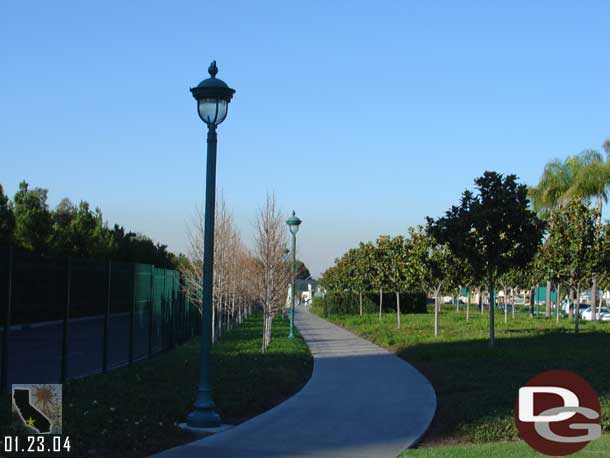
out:
{"label": "shaded green ground cover between the fence and the walkway", "polygon": [[[262,317],[250,317],[212,349],[213,397],[225,423],[239,423],[282,402],[311,376],[305,342],[287,338],[288,321],[276,319],[273,339],[260,352]],[[197,439],[177,427],[191,411],[199,370],[199,339],[104,375],[63,386],[63,433],[74,456],[141,457]],[[0,398],[0,437],[19,432],[10,397]]]}

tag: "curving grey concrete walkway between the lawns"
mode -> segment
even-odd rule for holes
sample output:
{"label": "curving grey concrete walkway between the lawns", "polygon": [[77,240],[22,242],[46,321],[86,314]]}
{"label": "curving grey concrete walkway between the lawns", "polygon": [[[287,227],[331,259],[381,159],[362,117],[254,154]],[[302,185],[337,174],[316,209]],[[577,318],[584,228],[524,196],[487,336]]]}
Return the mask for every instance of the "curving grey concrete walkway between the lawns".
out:
{"label": "curving grey concrete walkway between the lawns", "polygon": [[428,380],[386,350],[298,307],[314,356],[311,380],[279,406],[156,457],[394,458],[436,410]]}

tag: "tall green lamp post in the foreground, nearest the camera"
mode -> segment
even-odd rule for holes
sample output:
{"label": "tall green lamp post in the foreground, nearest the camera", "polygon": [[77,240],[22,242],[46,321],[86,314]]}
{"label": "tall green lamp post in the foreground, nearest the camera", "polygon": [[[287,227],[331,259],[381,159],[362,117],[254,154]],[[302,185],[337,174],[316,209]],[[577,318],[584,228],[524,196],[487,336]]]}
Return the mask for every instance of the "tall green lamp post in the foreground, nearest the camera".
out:
{"label": "tall green lamp post in the foreground, nearest the camera", "polygon": [[194,409],[187,417],[187,425],[193,428],[220,425],[220,416],[212,400],[208,362],[212,346],[212,280],[214,267],[214,206],[216,201],[216,127],[225,120],[229,102],[235,93],[222,80],[216,78],[216,61],[208,68],[210,78],[191,88],[197,100],[197,112],[208,126],[208,156],[205,180],[205,227],[203,241],[203,292],[201,307],[201,356],[199,391]]}

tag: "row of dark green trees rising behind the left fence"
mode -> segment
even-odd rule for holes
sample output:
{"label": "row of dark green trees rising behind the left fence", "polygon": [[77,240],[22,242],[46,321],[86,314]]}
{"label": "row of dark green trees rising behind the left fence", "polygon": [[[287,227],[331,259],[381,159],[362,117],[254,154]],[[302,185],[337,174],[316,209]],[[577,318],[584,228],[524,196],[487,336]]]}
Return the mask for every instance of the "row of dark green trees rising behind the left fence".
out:
{"label": "row of dark green trees rising behind the left fence", "polygon": [[50,209],[48,191],[19,184],[13,199],[0,185],[0,244],[54,256],[111,257],[117,261],[175,267],[179,259],[166,245],[115,225],[109,228],[99,208],[68,198]]}

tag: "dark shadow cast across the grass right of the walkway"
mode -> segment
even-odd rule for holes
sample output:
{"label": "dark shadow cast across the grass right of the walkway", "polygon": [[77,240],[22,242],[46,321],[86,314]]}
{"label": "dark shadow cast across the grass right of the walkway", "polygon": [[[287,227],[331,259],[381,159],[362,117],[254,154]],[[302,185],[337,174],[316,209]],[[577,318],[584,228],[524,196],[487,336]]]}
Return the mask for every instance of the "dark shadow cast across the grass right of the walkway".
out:
{"label": "dark shadow cast across the grass right of the walkway", "polygon": [[415,344],[397,354],[426,375],[437,393],[437,414],[425,444],[515,439],[518,389],[552,369],[575,372],[593,386],[602,403],[603,428],[610,430],[608,333],[537,330],[532,337],[499,338],[493,348],[484,340],[460,340]]}

